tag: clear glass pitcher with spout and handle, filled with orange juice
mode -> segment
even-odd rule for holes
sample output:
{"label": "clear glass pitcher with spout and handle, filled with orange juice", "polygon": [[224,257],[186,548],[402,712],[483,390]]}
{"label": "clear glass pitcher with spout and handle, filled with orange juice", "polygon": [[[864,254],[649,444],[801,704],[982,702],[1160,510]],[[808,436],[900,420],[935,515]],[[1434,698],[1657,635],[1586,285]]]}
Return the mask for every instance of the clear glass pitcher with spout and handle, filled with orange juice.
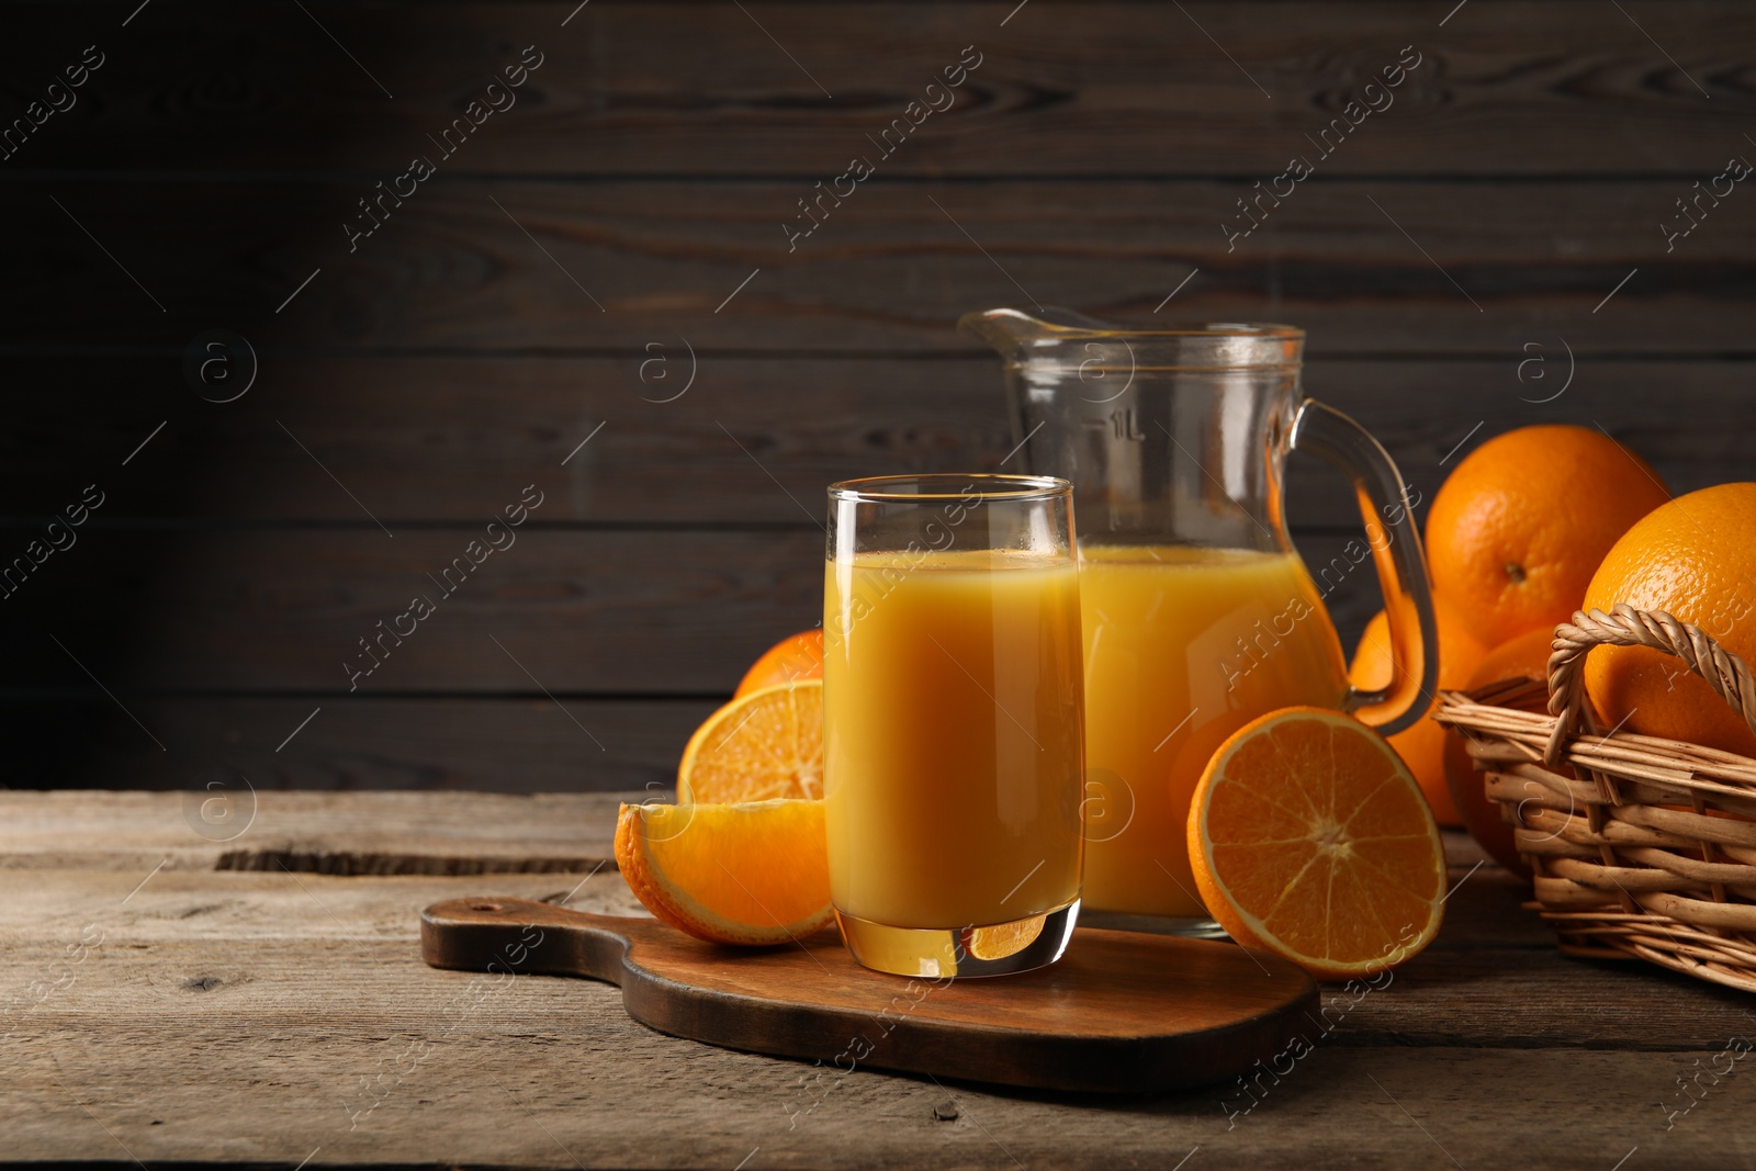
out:
{"label": "clear glass pitcher with spout and handle, filled with orange juice", "polygon": [[[1073,483],[1085,906],[1213,932],[1185,825],[1220,743],[1292,704],[1354,711],[1389,734],[1431,700],[1433,600],[1403,479],[1364,428],[1303,397],[1303,330],[1133,330],[1043,307],[971,313],[959,328],[1004,358],[1026,469]],[[1303,449],[1352,479],[1366,521],[1366,541],[1315,578],[1282,511],[1282,465]],[[1396,660],[1391,686],[1375,692],[1349,685],[1322,602],[1366,560],[1384,590]]]}

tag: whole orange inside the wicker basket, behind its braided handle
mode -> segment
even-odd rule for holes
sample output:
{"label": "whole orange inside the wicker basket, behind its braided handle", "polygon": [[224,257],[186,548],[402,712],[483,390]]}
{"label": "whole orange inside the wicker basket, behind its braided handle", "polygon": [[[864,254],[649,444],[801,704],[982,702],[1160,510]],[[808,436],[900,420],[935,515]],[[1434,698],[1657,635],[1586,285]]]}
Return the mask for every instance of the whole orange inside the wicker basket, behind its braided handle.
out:
{"label": "whole orange inside the wicker basket, behind its braided handle", "polygon": [[[1756,485],[1717,485],[1677,497],[1630,528],[1586,590],[1584,609],[1628,602],[1693,623],[1756,664]],[[1645,736],[1668,736],[1756,757],[1744,716],[1680,660],[1645,646],[1600,646],[1586,658],[1598,715]]]}

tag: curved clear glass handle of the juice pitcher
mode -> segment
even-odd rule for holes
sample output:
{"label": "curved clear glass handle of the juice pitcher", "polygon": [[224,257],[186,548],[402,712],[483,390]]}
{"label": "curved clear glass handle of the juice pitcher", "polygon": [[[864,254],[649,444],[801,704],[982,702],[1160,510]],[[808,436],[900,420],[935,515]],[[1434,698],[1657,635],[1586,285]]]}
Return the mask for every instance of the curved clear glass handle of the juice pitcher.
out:
{"label": "curved clear glass handle of the juice pitcher", "polygon": [[1438,686],[1438,629],[1426,576],[1421,530],[1396,462],[1371,434],[1315,399],[1299,404],[1287,432],[1289,451],[1315,451],[1354,483],[1366,542],[1384,590],[1391,623],[1391,685],[1377,690],[1350,686],[1345,709],[1384,736],[1421,720]]}

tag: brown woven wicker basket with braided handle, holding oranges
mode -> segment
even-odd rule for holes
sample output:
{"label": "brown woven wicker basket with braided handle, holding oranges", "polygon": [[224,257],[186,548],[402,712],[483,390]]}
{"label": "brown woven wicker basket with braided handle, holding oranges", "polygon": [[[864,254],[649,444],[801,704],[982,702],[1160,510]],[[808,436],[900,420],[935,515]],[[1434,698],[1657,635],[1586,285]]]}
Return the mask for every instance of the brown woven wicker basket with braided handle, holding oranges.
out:
{"label": "brown woven wicker basket with braided handle, holding oranges", "polygon": [[1586,651],[1679,657],[1756,730],[1756,679],[1737,655],[1670,614],[1617,606],[1556,627],[1549,683],[1442,692],[1433,718],[1461,730],[1487,797],[1535,871],[1533,909],[1570,955],[1637,957],[1756,992],[1756,760],[1601,723]]}

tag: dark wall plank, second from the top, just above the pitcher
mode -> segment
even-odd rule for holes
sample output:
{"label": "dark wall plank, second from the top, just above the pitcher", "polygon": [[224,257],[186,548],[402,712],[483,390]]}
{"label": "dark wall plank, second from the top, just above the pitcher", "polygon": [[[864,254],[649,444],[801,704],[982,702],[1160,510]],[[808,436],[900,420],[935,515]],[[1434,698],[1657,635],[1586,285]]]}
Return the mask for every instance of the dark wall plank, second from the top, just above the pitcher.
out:
{"label": "dark wall plank, second from the top, just above the pitcher", "polygon": [[[1702,165],[1707,179],[1723,162]],[[952,327],[969,309],[1150,318],[1198,269],[1166,314],[1289,320],[1313,355],[1515,362],[1549,332],[1584,353],[1747,353],[1756,221],[1728,202],[1668,246],[1658,225],[1689,183],[1313,179],[1229,246],[1220,223],[1252,181],[874,183],[788,251],[797,181],[448,176],[349,251],[360,181],[58,179],[54,198],[165,313],[42,184],[0,184],[18,225],[0,262],[39,293],[0,342],[181,353],[223,327],[256,346],[968,353]]]}

